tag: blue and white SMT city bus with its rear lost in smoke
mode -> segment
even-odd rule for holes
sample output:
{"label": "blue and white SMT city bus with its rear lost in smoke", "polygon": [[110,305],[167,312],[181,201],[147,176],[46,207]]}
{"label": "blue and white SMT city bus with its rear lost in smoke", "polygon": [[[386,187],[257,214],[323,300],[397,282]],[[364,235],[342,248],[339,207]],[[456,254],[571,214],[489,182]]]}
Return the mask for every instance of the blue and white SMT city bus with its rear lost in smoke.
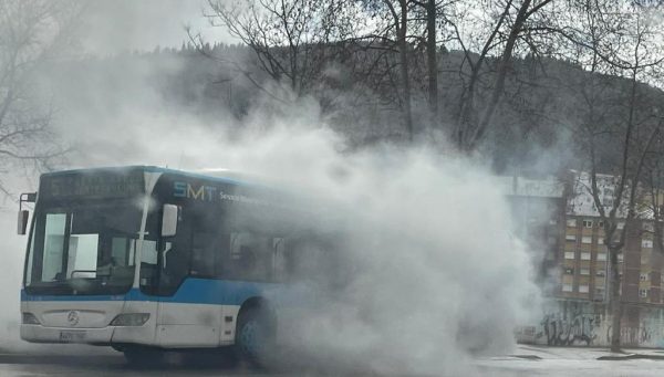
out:
{"label": "blue and white SMT city bus with its rear lost in smoke", "polygon": [[[305,295],[294,276],[331,271],[317,266],[333,245],[312,235],[312,211],[230,174],[56,171],[25,201],[28,342],[112,346],[135,363],[231,346],[257,360]],[[21,234],[28,217],[21,208]]]}

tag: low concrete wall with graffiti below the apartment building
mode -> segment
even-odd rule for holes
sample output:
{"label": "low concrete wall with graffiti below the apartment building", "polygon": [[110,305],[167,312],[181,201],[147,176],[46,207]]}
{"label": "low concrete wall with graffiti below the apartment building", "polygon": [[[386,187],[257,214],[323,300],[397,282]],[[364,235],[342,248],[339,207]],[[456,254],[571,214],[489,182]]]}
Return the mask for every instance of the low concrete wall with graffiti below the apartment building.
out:
{"label": "low concrete wall with graffiti below the apartment building", "polygon": [[[664,308],[625,304],[621,329],[624,347],[664,348]],[[540,323],[516,332],[519,343],[550,346],[611,344],[611,315],[604,304],[556,301],[547,304]]]}

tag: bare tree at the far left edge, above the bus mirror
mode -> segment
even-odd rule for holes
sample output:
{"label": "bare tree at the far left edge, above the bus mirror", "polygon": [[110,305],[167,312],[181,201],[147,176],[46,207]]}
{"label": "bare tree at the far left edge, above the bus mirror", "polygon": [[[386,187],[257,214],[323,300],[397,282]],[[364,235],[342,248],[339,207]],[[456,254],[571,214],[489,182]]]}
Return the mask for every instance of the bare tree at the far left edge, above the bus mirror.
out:
{"label": "bare tree at the far left edge, above the bus mirror", "polygon": [[[69,40],[76,7],[64,1],[0,0],[0,169],[49,166],[64,150],[41,106],[35,71]],[[9,193],[0,184],[0,190]]]}

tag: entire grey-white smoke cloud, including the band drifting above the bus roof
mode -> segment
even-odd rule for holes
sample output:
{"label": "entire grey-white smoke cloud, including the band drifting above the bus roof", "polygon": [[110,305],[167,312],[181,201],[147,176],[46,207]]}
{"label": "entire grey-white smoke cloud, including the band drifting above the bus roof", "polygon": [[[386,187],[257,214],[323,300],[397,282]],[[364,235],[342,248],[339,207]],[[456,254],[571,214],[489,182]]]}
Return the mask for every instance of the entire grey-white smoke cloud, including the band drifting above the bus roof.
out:
{"label": "entire grey-white smoke cloud, including the band drifting above the bus roof", "polygon": [[[121,63],[43,72],[43,92],[58,93],[55,126],[74,146],[68,167],[229,168],[322,198],[345,219],[357,273],[302,318],[300,352],[378,373],[457,375],[471,371],[476,353],[513,347],[513,327],[530,318],[539,293],[480,158],[427,144],[351,151],[313,98],[259,98],[242,119],[197,114],[170,106],[154,83],[157,73],[177,74],[177,61]],[[6,242],[13,254],[23,250]],[[22,258],[12,265],[20,271]],[[12,303],[19,279],[3,277]]]}

